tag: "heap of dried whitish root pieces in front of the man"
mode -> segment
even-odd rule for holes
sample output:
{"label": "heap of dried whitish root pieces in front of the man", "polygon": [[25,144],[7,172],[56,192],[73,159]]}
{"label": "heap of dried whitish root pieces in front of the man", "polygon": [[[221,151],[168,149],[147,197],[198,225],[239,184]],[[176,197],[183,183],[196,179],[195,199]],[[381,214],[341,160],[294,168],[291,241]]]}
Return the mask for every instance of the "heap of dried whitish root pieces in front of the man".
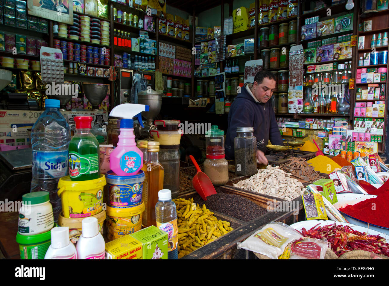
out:
{"label": "heap of dried whitish root pieces in front of the man", "polygon": [[280,170],[279,166],[270,165],[266,169],[259,169],[256,175],[233,186],[289,201],[303,195],[305,190],[300,181],[291,177],[291,173]]}

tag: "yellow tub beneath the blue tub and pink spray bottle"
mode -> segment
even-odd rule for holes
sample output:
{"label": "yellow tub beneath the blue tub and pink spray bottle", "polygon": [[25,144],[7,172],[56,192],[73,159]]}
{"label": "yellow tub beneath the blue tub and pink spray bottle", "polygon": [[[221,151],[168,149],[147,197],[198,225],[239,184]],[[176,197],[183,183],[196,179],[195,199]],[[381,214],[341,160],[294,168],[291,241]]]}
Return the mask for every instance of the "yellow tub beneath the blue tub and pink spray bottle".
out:
{"label": "yellow tub beneath the blue tub and pink spray bottle", "polygon": [[115,208],[107,205],[107,237],[109,241],[137,232],[142,228],[142,213],[145,204],[135,207]]}

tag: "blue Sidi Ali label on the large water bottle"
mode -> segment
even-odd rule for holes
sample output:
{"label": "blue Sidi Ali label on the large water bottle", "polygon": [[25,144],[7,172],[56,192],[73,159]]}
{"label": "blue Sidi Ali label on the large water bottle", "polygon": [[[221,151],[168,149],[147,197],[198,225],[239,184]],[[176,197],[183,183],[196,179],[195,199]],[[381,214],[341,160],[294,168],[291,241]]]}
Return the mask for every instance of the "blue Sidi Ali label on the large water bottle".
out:
{"label": "blue Sidi Ali label on the large water bottle", "polygon": [[68,151],[32,152],[33,168],[44,170],[45,176],[60,178],[68,173]]}

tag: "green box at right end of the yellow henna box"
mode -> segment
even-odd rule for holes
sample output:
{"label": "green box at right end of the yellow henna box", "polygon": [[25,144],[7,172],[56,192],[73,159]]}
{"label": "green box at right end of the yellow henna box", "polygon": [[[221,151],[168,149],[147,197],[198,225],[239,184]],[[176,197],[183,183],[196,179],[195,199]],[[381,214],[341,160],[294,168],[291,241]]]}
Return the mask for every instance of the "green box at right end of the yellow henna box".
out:
{"label": "green box at right end of the yellow henna box", "polygon": [[168,259],[168,234],[156,226],[131,233],[143,244],[143,259]]}

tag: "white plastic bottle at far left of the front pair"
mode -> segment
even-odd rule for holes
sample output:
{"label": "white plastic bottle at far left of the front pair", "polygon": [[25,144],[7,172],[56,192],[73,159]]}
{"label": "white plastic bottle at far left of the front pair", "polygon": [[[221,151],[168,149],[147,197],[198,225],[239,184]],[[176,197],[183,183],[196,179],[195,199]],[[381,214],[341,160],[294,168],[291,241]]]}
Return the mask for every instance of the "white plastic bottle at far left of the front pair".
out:
{"label": "white plastic bottle at far left of the front pair", "polygon": [[77,259],[74,244],[70,243],[69,228],[58,226],[51,229],[51,244],[45,259]]}

